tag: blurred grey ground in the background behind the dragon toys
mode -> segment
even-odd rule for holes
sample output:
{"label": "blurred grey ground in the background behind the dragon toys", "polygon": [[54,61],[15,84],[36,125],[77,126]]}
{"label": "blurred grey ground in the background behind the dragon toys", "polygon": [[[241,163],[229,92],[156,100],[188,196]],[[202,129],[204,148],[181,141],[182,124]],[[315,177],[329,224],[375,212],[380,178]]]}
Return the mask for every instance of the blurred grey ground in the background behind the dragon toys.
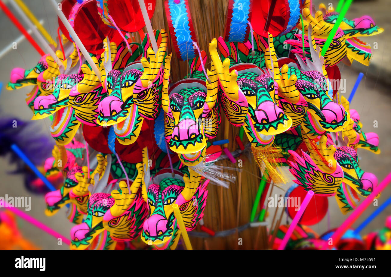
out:
{"label": "blurred grey ground in the background behind the dragon toys", "polygon": [[[4,1],[6,4],[8,1]],[[57,0],[57,2],[59,2]],[[316,8],[322,1],[313,1]],[[328,2],[323,2],[328,5]],[[333,2],[336,7],[337,1]],[[57,36],[57,16],[52,8],[52,5],[48,0],[25,0],[25,4],[29,6],[38,20],[44,21],[44,27],[50,32],[52,37]],[[372,50],[373,57],[369,67],[362,66],[361,64],[354,62],[352,67],[347,67],[341,63],[340,70],[343,79],[346,79],[347,95],[353,88],[356,78],[359,72],[365,74],[361,84],[355,94],[355,97],[350,105],[350,108],[356,109],[360,116],[361,122],[364,125],[364,132],[377,132],[380,138],[381,154],[376,155],[369,151],[360,149],[358,154],[360,157],[360,166],[364,171],[372,172],[377,177],[379,182],[389,173],[391,167],[391,96],[389,90],[389,84],[391,83],[391,23],[390,23],[390,4],[389,0],[355,0],[351,5],[346,18],[354,19],[364,14],[368,14],[375,19],[378,26],[384,28],[384,33],[363,38],[365,42],[373,45],[373,42],[377,42],[378,49]],[[8,7],[12,7],[7,4]],[[9,45],[16,41],[21,33],[16,27],[9,21],[7,16],[0,11],[0,51],[9,47]],[[161,26],[152,26],[158,28]],[[25,95],[30,92],[32,87],[26,87],[17,91],[7,91],[5,85],[9,81],[9,74],[14,67],[22,67],[30,69],[36,65],[40,56],[35,49],[29,44],[27,40],[17,44],[17,49],[11,49],[7,54],[0,59],[0,81],[3,83],[3,88],[0,94],[0,116],[14,116],[15,118],[21,118],[29,120],[32,117],[31,110],[26,106]],[[373,127],[373,121],[378,121],[378,128]],[[50,136],[48,126],[50,125],[49,119],[43,119],[39,121],[42,132],[46,132]],[[0,146],[2,147],[2,146]],[[72,224],[66,219],[65,208],[61,209],[56,215],[52,217],[46,217],[44,214],[45,201],[43,195],[32,195],[27,192],[23,186],[23,181],[20,176],[13,176],[7,174],[7,172],[14,168],[8,164],[7,159],[0,159],[0,196],[31,196],[31,210],[27,212],[39,221],[47,224],[57,232],[69,237],[69,231],[72,228]],[[283,186],[286,190],[290,184]],[[278,189],[274,190],[274,193],[279,193]],[[273,193],[273,194],[274,194]],[[391,195],[391,187],[389,186],[384,190],[382,196],[379,198],[379,205],[385,201]],[[337,203],[334,197],[329,197],[330,208],[330,227],[335,228],[339,226],[347,215],[342,215],[339,211]],[[354,226],[358,226],[362,220],[364,220],[375,207],[370,206],[366,212],[362,215]],[[269,209],[271,216],[267,221],[271,221],[271,217],[274,214],[274,209]],[[365,228],[361,234],[367,234],[384,226],[387,215],[391,215],[391,206],[389,206],[382,214],[380,214],[375,220],[372,221],[367,228]],[[312,226],[314,231],[322,234],[327,230],[327,217],[321,221],[321,223]],[[285,222],[285,219],[283,220]],[[31,224],[18,219],[18,224],[22,234],[30,239],[33,243],[39,246],[41,249],[69,249],[68,246],[57,245],[57,239],[43,233],[41,230],[32,226]]]}

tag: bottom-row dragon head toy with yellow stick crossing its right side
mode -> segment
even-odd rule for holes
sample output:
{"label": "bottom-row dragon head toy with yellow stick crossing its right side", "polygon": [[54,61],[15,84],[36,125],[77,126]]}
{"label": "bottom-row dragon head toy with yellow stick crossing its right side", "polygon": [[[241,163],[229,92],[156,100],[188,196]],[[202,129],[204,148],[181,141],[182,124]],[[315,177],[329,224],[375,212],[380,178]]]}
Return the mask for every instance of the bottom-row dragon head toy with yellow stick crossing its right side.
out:
{"label": "bottom-row dragon head toy with yellow stick crossing its right side", "polygon": [[[178,204],[187,231],[193,230],[203,217],[209,180],[200,184],[201,176],[189,168],[190,175],[161,170],[143,189],[149,214],[143,224],[141,239],[157,249],[175,249],[180,230],[172,205]],[[144,187],[143,187],[144,188]]]}

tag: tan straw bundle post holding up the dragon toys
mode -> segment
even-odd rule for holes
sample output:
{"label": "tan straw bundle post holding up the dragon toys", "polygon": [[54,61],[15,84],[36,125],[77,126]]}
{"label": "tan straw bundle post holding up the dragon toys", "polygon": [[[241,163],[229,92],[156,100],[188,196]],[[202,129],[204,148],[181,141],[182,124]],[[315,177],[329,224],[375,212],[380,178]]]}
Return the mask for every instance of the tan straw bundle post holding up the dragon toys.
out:
{"label": "tan straw bundle post holding up the dragon toys", "polygon": [[[207,61],[206,68],[210,68],[211,59],[208,55],[208,45],[213,38],[218,38],[223,35],[225,16],[228,5],[228,0],[192,0],[188,1],[190,6],[192,22],[197,34],[198,46],[201,50],[206,51]],[[164,28],[169,31],[167,18],[165,15],[165,8],[163,1],[156,1],[154,15],[151,19],[151,24],[154,29]],[[144,28],[144,33],[146,29]],[[136,34],[137,37],[138,34]],[[170,36],[169,36],[170,37]],[[172,48],[172,40],[170,38],[170,45],[168,53],[172,53],[171,58],[171,75],[172,83],[181,80],[187,73],[189,73],[188,62],[183,62],[178,59],[175,51]],[[229,125],[228,138],[224,138],[224,122],[226,118],[222,112],[222,123],[220,125],[218,139],[229,139],[228,149],[234,151],[239,146],[235,141],[235,136],[239,134],[239,128]],[[243,138],[244,145],[249,141],[246,136]],[[248,157],[249,156],[249,157]],[[260,170],[253,160],[252,154],[246,156],[240,155],[236,159],[242,159],[243,165],[238,167],[238,163],[231,163],[229,160],[218,161],[217,165],[224,167],[234,167],[244,169],[241,174],[241,195],[238,200],[238,172],[233,172],[237,176],[236,182],[230,184],[230,188],[222,188],[210,184],[208,186],[208,199],[206,208],[204,210],[204,225],[215,232],[230,230],[237,227],[237,217],[239,217],[239,226],[249,222],[251,208],[254,203],[255,195],[258,190],[260,182]],[[240,201],[239,215],[237,214],[237,205]],[[261,207],[262,208],[262,207]],[[253,249],[255,244],[255,237],[258,228],[247,228],[241,232],[233,232],[233,234],[225,237],[193,237],[190,235],[190,241],[193,249]],[[201,232],[200,225],[195,229]],[[242,239],[242,245],[238,245],[239,238]],[[266,248],[264,242],[267,241],[267,232],[262,229],[260,233],[259,248]]]}

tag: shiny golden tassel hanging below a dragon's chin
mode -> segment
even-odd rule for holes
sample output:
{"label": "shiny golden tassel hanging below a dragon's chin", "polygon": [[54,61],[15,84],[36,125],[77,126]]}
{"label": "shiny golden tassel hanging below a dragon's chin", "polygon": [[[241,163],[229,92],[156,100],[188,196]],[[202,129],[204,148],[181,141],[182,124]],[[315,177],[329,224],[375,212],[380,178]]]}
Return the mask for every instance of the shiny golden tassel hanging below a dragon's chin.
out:
{"label": "shiny golden tassel hanging below a dragon's chin", "polygon": [[287,183],[286,177],[279,168],[282,166],[282,163],[279,162],[283,154],[281,147],[271,145],[268,148],[260,150],[251,146],[251,150],[258,167],[262,172],[265,172],[265,169],[267,170],[274,184]]}

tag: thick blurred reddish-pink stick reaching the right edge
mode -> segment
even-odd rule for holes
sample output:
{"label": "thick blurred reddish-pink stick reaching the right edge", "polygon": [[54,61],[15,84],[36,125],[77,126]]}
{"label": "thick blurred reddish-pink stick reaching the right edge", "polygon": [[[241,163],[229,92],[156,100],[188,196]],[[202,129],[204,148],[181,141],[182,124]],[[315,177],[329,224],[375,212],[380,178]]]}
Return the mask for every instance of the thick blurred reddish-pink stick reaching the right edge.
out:
{"label": "thick blurred reddish-pink stick reaching the right edge", "polygon": [[[352,214],[349,215],[349,217],[342,223],[341,226],[335,231],[335,233],[331,236],[332,242],[335,245],[339,239],[345,234],[346,230],[349,229],[350,226],[359,218],[359,216],[364,212],[368,206],[373,203],[373,199],[386,188],[386,186],[391,182],[391,172],[384,178],[384,180],[373,190],[371,194],[369,194],[368,197],[362,201],[362,203],[353,210]],[[333,245],[327,245],[325,248],[332,248]]]}

